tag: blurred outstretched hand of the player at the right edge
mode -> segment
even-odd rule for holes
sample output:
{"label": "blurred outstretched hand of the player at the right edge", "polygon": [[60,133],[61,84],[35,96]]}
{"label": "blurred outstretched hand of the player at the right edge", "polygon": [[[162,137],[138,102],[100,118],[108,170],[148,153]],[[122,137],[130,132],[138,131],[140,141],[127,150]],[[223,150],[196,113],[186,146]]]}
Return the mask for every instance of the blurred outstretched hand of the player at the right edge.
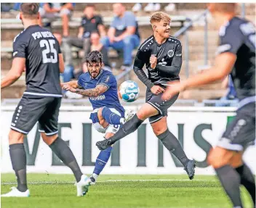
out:
{"label": "blurred outstretched hand of the player at the right edge", "polygon": [[173,96],[177,95],[181,91],[185,91],[185,83],[180,83],[180,81],[172,81],[168,83],[169,86],[165,89],[161,99],[168,101]]}

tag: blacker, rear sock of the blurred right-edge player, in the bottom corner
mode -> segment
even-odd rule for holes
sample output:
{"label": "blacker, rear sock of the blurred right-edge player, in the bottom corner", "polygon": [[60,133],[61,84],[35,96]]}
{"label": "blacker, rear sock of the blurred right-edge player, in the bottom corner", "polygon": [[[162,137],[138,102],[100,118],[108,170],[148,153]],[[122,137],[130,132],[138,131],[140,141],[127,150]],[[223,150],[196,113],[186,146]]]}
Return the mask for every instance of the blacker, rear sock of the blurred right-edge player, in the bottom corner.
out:
{"label": "blacker, rear sock of the blurred right-edge player, in the bottom corner", "polygon": [[255,177],[249,167],[244,164],[236,168],[236,172],[239,173],[241,177],[241,185],[247,188],[247,191],[252,196],[252,201],[255,204]]}

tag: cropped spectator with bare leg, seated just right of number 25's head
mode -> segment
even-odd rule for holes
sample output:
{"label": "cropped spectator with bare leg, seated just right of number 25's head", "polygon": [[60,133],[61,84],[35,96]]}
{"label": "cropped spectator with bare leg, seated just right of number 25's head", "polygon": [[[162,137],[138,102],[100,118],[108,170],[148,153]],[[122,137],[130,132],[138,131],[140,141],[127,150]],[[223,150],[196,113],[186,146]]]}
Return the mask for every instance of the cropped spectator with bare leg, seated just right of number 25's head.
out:
{"label": "cropped spectator with bare leg, seated just right of number 25's head", "polygon": [[69,34],[68,22],[73,11],[74,4],[72,3],[45,3],[43,9],[41,9],[41,18],[49,19],[49,22],[57,18],[63,20],[63,36],[66,37]]}

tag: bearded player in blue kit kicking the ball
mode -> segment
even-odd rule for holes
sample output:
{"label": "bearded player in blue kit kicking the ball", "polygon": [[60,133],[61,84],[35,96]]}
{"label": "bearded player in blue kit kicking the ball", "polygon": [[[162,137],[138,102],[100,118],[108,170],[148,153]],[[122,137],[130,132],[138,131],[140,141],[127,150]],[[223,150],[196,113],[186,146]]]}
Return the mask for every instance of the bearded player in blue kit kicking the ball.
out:
{"label": "bearded player in blue kit kicking the ball", "polygon": [[[63,89],[89,97],[93,111],[90,115],[94,128],[105,133],[110,138],[119,130],[119,126],[132,118],[131,111],[124,110],[119,102],[117,82],[112,72],[103,70],[103,54],[92,51],[87,55],[86,64],[88,72],[82,74],[79,80],[62,83]],[[92,183],[105,167],[111,156],[112,146],[100,151],[95,163],[95,170],[91,175]]]}

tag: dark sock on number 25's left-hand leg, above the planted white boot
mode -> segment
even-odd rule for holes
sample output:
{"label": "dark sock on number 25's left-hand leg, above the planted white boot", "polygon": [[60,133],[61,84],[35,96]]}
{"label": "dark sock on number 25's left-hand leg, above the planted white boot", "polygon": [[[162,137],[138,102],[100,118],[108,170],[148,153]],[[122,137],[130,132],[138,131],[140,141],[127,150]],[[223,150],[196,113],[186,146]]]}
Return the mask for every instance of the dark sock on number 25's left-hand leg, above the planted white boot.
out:
{"label": "dark sock on number 25's left-hand leg, above the planted white boot", "polygon": [[17,177],[17,189],[25,192],[28,189],[26,174],[27,160],[23,143],[9,145],[9,156],[11,157],[12,168],[15,170]]}

